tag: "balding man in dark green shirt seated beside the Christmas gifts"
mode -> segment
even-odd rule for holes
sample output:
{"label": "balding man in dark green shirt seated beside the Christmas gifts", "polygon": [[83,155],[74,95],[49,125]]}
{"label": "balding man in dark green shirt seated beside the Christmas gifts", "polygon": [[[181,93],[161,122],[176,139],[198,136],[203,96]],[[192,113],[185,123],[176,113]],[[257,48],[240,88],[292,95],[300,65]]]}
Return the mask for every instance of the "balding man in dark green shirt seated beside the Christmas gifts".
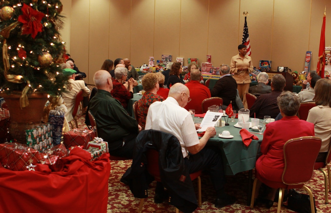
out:
{"label": "balding man in dark green shirt seated beside the Christmas gifts", "polygon": [[108,142],[111,155],[132,158],[133,145],[141,127],[111,95],[113,82],[108,71],[97,71],[93,80],[98,91],[90,100],[89,110],[95,118],[98,136]]}

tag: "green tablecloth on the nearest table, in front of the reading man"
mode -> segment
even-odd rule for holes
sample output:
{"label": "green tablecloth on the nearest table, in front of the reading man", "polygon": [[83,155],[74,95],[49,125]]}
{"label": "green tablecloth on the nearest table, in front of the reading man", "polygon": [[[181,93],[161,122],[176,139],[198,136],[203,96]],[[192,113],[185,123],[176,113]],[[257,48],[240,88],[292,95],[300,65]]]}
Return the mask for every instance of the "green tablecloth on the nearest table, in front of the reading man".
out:
{"label": "green tablecloth on the nearest table, in front of the reading man", "polygon": [[[225,117],[227,119],[227,117]],[[224,121],[224,117],[222,118]],[[230,131],[230,134],[234,137],[231,139],[225,139],[220,137],[210,138],[206,146],[216,146],[221,151],[223,166],[225,175],[235,175],[238,172],[243,172],[255,168],[256,156],[260,151],[260,143],[262,142],[263,135],[255,134],[259,140],[252,140],[252,143],[246,147],[242,141],[239,131],[241,128],[234,127],[236,122],[230,122],[229,126],[215,127],[216,135],[220,134],[224,130]],[[250,132],[259,133],[253,131]]]}

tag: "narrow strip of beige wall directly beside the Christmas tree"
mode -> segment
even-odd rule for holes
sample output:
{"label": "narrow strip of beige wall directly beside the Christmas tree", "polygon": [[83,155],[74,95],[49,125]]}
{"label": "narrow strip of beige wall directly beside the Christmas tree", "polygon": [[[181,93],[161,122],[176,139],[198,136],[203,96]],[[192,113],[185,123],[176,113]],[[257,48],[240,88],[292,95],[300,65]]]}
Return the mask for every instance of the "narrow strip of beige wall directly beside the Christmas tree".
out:
{"label": "narrow strip of beige wall directly beside the Christmas tree", "polygon": [[65,16],[63,19],[64,26],[60,30],[62,40],[66,42],[66,51],[70,53],[70,30],[71,30],[71,0],[62,0],[63,10],[61,12],[62,16]]}

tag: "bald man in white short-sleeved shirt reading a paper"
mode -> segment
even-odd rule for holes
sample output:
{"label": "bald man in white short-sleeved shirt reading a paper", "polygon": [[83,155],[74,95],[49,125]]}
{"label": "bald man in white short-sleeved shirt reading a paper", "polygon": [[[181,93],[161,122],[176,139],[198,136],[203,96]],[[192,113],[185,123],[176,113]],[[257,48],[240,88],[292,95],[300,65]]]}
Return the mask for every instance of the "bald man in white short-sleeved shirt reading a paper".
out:
{"label": "bald man in white short-sleeved shirt reading a paper", "polygon": [[[192,75],[192,73],[191,73]],[[191,114],[183,107],[191,101],[189,89],[177,83],[172,85],[166,100],[152,103],[148,109],[145,129],[156,129],[177,137],[182,148],[185,168],[189,173],[208,170],[216,191],[215,207],[221,208],[235,202],[235,197],[224,192],[224,169],[221,155],[217,150],[205,147],[213,137],[215,127],[208,127],[199,139]]]}

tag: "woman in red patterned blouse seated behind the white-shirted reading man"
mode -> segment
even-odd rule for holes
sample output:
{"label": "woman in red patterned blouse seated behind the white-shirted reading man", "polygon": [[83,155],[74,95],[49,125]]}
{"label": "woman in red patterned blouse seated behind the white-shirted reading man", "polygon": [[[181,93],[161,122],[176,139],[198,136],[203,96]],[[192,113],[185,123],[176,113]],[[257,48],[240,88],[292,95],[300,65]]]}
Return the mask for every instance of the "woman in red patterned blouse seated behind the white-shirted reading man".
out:
{"label": "woman in red patterned blouse seated behind the white-shirted reading man", "polygon": [[138,101],[138,124],[142,129],[145,129],[146,117],[149,106],[155,101],[165,100],[161,95],[157,94],[159,90],[159,82],[155,73],[147,73],[144,75],[142,81],[143,89],[145,93],[143,97]]}

